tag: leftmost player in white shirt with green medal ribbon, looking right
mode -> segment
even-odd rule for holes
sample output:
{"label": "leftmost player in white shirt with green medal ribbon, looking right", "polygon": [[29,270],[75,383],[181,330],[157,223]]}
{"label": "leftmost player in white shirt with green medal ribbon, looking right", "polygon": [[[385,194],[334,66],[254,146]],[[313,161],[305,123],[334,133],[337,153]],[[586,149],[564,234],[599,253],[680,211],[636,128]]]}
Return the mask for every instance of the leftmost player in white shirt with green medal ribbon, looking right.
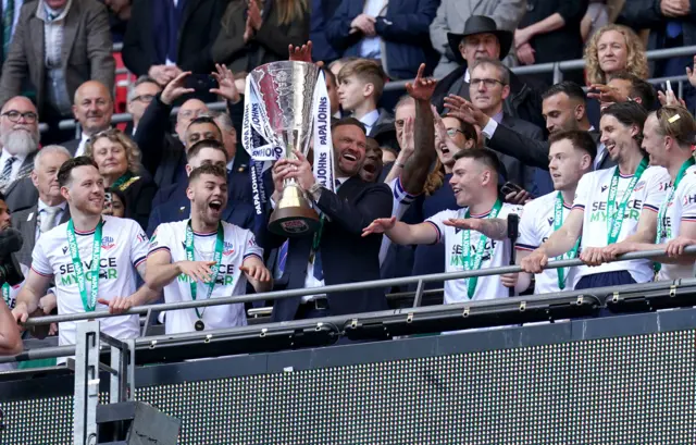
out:
{"label": "leftmost player in white shirt with green medal ribbon, looking right", "polygon": [[[32,270],[12,311],[26,321],[55,279],[60,314],[109,310],[122,313],[158,294],[147,286],[136,292],[136,270],[145,276],[148,239],[133,220],[102,217],[104,183],[95,161],[70,159],[58,172],[71,219],[41,234],[34,247]],[[101,331],[116,338],[137,337],[137,316],[101,320]],[[59,345],[75,344],[75,322],[59,325]]]}

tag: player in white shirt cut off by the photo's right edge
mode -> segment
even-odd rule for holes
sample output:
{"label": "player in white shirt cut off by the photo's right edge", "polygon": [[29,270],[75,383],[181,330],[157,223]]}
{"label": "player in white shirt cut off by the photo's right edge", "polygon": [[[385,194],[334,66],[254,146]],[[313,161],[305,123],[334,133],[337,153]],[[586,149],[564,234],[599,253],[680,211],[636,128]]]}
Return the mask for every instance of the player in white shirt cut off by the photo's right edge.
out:
{"label": "player in white shirt cut off by the photo's right edge", "polygon": [[[682,107],[662,107],[651,112],[643,129],[643,148],[650,156],[650,164],[662,165],[670,174],[671,186],[658,211],[657,236],[648,243],[619,243],[607,247],[614,257],[639,250],[668,249],[671,257],[659,258],[656,270],[658,280],[676,280],[694,276],[694,256],[683,256],[679,246],[682,239],[696,238],[696,166],[691,138],[696,133],[696,122]],[[652,244],[655,242],[655,244]],[[656,246],[657,244],[657,246]]]}

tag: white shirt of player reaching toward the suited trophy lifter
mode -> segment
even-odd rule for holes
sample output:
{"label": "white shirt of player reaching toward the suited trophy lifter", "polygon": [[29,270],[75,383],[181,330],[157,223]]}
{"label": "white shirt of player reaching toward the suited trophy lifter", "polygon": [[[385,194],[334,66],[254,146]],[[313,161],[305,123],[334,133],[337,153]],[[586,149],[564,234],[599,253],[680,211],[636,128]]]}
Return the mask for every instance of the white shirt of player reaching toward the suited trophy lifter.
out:
{"label": "white shirt of player reaching toward the suited trophy lifter", "polygon": [[[425,220],[433,224],[437,230],[437,242],[445,244],[445,271],[446,272],[461,272],[464,270],[463,264],[463,232],[460,228],[455,228],[449,225],[443,224],[443,221],[455,219],[463,219],[467,213],[467,208],[459,210],[443,210],[439,213]],[[488,218],[490,212],[483,214],[471,214],[470,218]],[[496,218],[507,219],[508,214],[514,213],[522,214],[522,207],[504,203]],[[472,261],[478,245],[481,234],[478,232],[471,232],[470,236],[470,251]],[[488,239],[485,245],[485,254],[481,262],[481,269],[498,268],[508,265],[510,263],[510,240],[495,240]],[[505,298],[510,295],[509,288],[505,287],[500,282],[499,275],[480,276],[476,283],[476,291],[473,297],[469,298],[467,295],[469,280],[449,280],[445,282],[445,304],[473,301],[473,300],[489,300],[494,298]]]}

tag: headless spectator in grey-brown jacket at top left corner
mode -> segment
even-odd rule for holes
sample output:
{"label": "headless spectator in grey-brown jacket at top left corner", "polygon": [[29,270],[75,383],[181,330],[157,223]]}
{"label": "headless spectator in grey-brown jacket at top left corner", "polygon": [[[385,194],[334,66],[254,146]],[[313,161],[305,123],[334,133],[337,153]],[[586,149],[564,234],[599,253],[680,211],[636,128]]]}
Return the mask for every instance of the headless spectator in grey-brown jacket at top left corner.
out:
{"label": "headless spectator in grey-brown jacket at top left corner", "polygon": [[87,0],[26,2],[2,69],[0,103],[18,95],[24,79],[29,78],[41,120],[52,128],[46,138],[60,140],[58,122],[71,118],[71,98],[83,83],[97,81],[108,91],[113,89],[111,52],[103,4]]}

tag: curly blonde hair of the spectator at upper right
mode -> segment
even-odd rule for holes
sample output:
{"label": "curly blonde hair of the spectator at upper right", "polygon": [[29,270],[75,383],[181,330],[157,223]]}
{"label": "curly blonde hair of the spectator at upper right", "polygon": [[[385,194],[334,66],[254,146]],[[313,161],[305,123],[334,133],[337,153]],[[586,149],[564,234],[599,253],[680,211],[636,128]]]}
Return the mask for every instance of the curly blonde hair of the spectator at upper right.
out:
{"label": "curly blonde hair of the spectator at upper right", "polygon": [[646,79],[648,78],[648,59],[645,54],[645,47],[641,38],[633,29],[622,25],[606,25],[597,29],[593,34],[587,47],[585,47],[585,66],[587,71],[588,84],[606,84],[609,79],[607,74],[599,66],[599,58],[597,57],[597,42],[602,34],[616,30],[623,35],[626,45],[626,66],[625,71],[634,76]]}

